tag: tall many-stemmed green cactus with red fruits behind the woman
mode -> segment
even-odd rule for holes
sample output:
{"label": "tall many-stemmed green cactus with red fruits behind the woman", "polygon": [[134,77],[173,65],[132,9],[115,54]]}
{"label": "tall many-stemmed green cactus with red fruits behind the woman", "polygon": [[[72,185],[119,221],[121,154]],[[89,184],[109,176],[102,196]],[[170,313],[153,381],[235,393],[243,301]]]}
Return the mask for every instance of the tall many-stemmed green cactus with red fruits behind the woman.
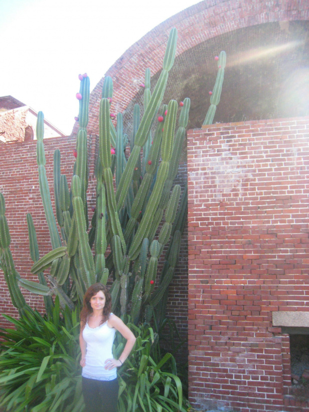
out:
{"label": "tall many-stemmed green cactus with red fruits behind the woman", "polygon": [[[39,258],[35,225],[28,215],[30,254],[33,260],[31,272],[37,274],[38,282],[21,278],[14,268],[9,250],[4,199],[2,195],[0,197],[1,267],[13,304],[19,311],[25,310],[26,304],[18,284],[32,293],[42,295],[46,311],[51,313],[51,295],[59,296],[61,305],[74,308],[74,304],[82,300],[88,286],[97,281],[104,284],[109,282],[113,311],[119,314],[130,313],[135,322],[142,319],[148,305],[155,306],[166,293],[179,255],[179,219],[183,219],[181,213],[183,214],[186,207],[183,204],[181,216],[179,213],[176,215],[180,187],[176,185],[172,190],[172,182],[177,173],[190,107],[189,99],[184,100],[180,113],[174,100],[167,106],[161,106],[168,72],[174,61],[176,39],[177,32],[172,29],[163,68],[152,93],[150,70],[146,71],[144,115],[140,119],[140,108],[136,105],[131,155],[128,159],[124,154],[127,136],[123,130],[122,114],[117,115],[116,128],[110,116],[113,82],[110,77],[106,77],[104,81],[99,115],[99,154],[95,171],[96,210],[90,230],[87,210],[86,129],[89,77],[80,76],[77,159],[71,192],[66,176],[60,172],[60,151],[56,150],[54,153],[55,210],[60,231],[56,226],[46,178],[43,115],[38,114],[37,164],[41,197],[51,238],[51,250]],[[158,115],[160,121],[156,122]],[[175,133],[177,117],[179,127]],[[116,154],[111,154],[111,145],[116,149]],[[165,221],[160,225],[163,216]],[[165,257],[163,273],[157,277],[158,259],[169,239],[171,246],[168,256]],[[48,268],[50,272],[46,274]]]}

